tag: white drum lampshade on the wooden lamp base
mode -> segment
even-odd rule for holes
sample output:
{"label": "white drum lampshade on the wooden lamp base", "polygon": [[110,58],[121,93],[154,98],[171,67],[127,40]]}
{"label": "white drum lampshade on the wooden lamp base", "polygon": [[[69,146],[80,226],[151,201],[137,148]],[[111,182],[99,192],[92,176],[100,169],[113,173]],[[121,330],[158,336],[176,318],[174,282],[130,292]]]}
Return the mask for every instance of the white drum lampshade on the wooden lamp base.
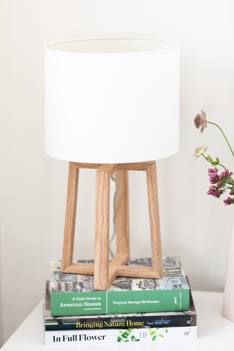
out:
{"label": "white drum lampshade on the wooden lamp base", "polygon": [[179,150],[179,44],[85,38],[45,45],[45,149],[81,163]]}

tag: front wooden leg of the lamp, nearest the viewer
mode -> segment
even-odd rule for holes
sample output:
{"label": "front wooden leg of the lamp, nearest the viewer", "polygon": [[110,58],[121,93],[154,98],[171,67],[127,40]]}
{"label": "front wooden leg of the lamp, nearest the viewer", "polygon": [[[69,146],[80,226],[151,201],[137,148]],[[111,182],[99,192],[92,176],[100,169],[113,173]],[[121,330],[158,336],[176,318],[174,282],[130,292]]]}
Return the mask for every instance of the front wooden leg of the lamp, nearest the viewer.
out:
{"label": "front wooden leg of the lamp, nearest the viewer", "polygon": [[94,289],[106,290],[109,277],[110,177],[116,165],[104,164],[96,171]]}

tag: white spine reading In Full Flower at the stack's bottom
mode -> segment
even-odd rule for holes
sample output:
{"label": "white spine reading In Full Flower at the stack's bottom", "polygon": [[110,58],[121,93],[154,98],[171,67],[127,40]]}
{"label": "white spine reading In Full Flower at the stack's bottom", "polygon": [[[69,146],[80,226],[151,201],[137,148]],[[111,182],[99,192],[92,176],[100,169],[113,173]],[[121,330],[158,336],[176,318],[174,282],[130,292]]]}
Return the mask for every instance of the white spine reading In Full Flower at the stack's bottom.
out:
{"label": "white spine reading In Full Flower at the stack's bottom", "polygon": [[136,329],[95,329],[95,330],[60,330],[45,331],[46,345],[111,343],[125,341],[156,341],[194,339],[197,337],[196,326],[158,327]]}

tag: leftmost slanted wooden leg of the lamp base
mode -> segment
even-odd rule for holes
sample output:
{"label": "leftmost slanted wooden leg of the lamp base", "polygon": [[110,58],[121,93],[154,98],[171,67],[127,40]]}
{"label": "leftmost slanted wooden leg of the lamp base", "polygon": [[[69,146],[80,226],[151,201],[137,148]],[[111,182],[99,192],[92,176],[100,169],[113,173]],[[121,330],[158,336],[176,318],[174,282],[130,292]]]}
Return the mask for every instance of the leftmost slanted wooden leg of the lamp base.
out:
{"label": "leftmost slanted wooden leg of the lamp base", "polygon": [[67,206],[62,254],[62,272],[72,264],[79,168],[69,162]]}

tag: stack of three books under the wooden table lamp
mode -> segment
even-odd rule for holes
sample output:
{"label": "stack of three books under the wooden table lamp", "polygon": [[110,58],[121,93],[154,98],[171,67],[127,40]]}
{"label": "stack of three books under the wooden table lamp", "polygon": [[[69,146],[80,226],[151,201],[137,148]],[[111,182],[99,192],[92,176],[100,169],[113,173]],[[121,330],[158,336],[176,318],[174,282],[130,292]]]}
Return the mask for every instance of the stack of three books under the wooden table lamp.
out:
{"label": "stack of three books under the wooden table lamp", "polygon": [[[128,264],[152,266],[152,260]],[[197,337],[196,312],[179,257],[163,259],[162,279],[117,277],[107,291],[94,290],[93,283],[93,276],[61,273],[61,261],[51,261],[46,345]]]}

